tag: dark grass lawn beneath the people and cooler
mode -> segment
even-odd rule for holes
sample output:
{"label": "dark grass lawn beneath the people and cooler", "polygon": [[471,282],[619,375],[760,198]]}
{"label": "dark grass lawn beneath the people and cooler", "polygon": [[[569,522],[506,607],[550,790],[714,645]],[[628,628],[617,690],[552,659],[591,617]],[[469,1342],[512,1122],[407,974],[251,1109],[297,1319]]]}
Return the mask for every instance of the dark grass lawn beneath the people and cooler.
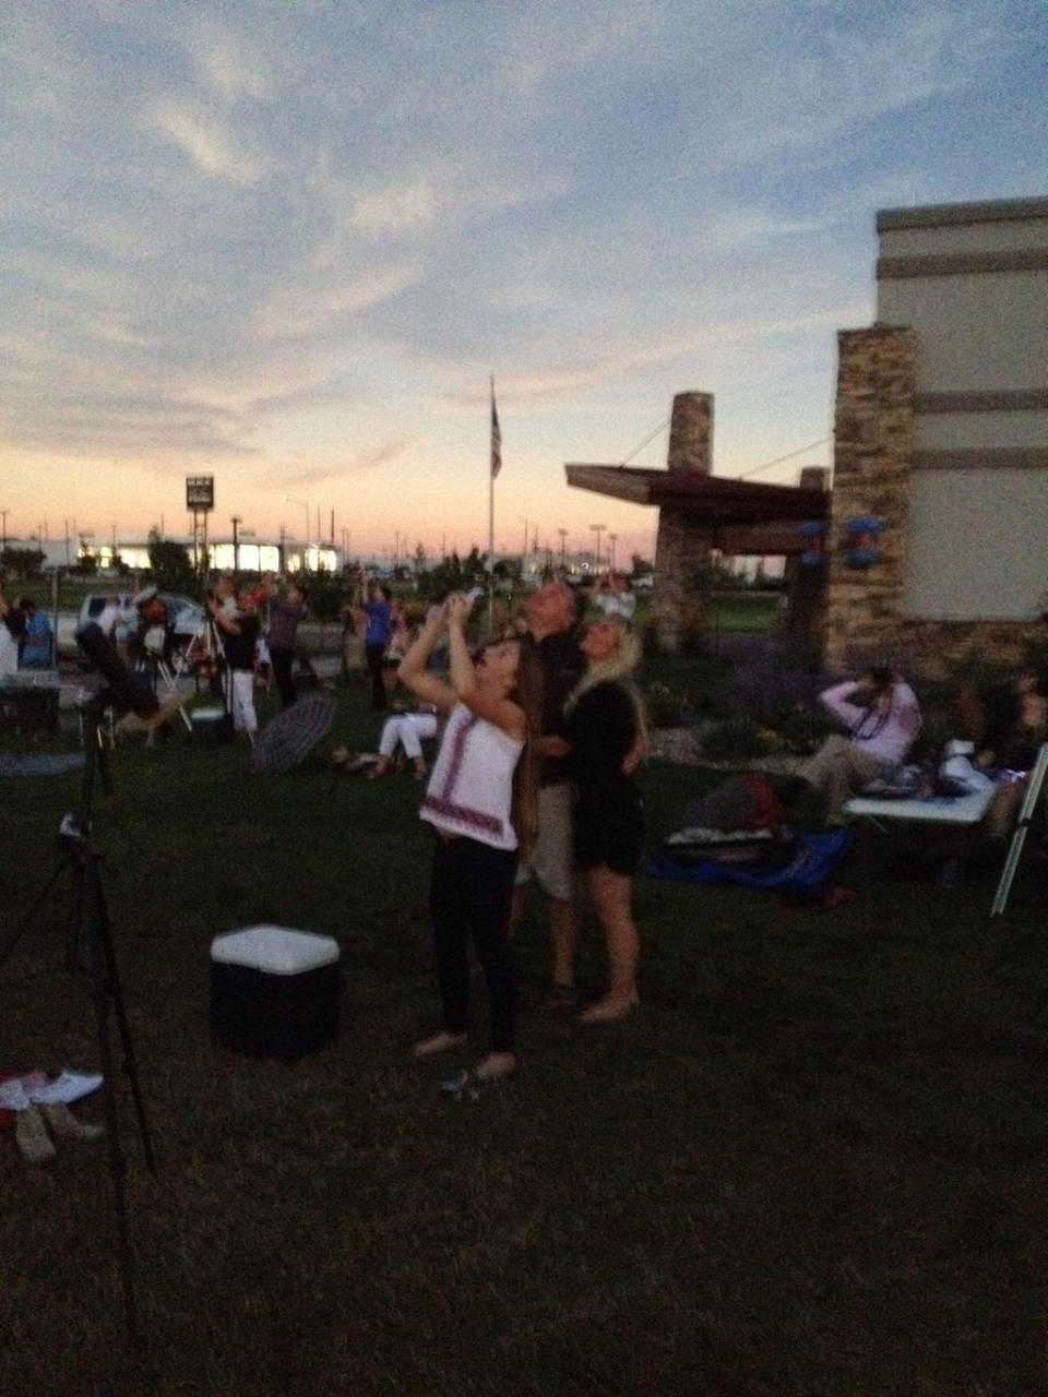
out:
{"label": "dark grass lawn beneath the people and cooler", "polygon": [[[337,693],[324,750],[372,746],[365,686]],[[113,780],[95,837],[158,1161],[122,1083],[145,1343],[124,1343],[103,1146],[29,1166],[7,1136],[1,1393],[1048,1390],[1033,858],[992,922],[995,872],[947,890],[868,852],[834,911],[641,876],[643,1009],[604,1028],[542,1010],[535,902],[521,1071],[453,1101],[437,1083],[483,1020],[461,1058],[411,1060],[436,1024],[414,781],[319,759],[263,780],[184,729],[122,742]],[[646,768],[653,844],[714,780]],[[0,782],[7,944],[80,775]],[[67,909],[56,890],[0,968],[6,1070],[98,1066]],[[342,1030],[314,1058],[211,1046],[211,937],[259,922],[340,943]],[[585,992],[601,977],[587,922]]]}

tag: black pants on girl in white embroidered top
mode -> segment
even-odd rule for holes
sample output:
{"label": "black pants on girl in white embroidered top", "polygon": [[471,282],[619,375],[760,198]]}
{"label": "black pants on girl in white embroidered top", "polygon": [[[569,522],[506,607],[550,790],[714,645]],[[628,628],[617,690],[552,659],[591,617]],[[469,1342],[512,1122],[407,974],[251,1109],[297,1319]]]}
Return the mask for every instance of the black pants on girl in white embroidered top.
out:
{"label": "black pants on girl in white embroidered top", "polygon": [[436,835],[429,884],[433,950],[440,979],[443,1028],[465,1032],[470,1009],[468,937],[488,983],[492,1052],[513,1052],[517,975],[510,949],[510,900],[516,849],[493,849],[476,840]]}

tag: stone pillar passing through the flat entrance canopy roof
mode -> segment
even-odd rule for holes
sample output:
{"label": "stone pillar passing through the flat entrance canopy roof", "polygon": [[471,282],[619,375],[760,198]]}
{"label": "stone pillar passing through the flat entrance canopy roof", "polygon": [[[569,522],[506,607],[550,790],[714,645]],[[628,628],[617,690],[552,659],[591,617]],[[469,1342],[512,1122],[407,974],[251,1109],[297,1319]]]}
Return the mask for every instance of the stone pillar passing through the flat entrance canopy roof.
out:
{"label": "stone pillar passing through the flat entrance canopy roof", "polygon": [[[669,422],[669,469],[708,475],[711,455],[713,394],[678,393]],[[708,563],[708,529],[696,525],[676,506],[664,506],[658,511],[651,609],[658,643],[672,654],[681,651],[689,636],[706,629]]]}

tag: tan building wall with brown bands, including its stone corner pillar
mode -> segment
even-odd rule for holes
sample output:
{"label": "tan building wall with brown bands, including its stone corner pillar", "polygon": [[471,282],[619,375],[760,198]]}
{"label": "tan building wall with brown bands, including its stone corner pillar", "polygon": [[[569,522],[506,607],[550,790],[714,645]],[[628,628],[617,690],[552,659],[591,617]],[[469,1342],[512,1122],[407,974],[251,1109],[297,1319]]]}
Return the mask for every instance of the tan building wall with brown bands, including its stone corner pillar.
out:
{"label": "tan building wall with brown bands, including its stone corner pillar", "polygon": [[[1048,588],[1048,200],[878,217],[878,324],[838,335],[827,668],[1017,665]],[[882,522],[848,566],[848,520]]]}

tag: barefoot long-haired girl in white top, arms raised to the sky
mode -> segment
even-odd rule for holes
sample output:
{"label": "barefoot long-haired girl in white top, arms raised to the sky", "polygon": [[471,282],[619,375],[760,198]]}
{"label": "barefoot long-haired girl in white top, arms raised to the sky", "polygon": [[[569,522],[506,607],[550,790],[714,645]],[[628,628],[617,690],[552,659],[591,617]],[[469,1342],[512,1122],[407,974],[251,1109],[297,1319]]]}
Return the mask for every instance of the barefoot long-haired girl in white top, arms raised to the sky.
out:
{"label": "barefoot long-haired girl in white top, arms raised to the sky", "polygon": [[[416,697],[450,714],[421,810],[436,833],[430,914],[443,1023],[415,1046],[415,1056],[432,1058],[465,1042],[472,936],[490,1018],[490,1051],[474,1076],[493,1080],[517,1067],[509,914],[518,851],[535,824],[531,738],[539,729],[542,671],[520,640],[486,645],[474,664],[464,634],[471,605],[454,592],[433,608],[398,672]],[[449,679],[426,668],[444,631]]]}

